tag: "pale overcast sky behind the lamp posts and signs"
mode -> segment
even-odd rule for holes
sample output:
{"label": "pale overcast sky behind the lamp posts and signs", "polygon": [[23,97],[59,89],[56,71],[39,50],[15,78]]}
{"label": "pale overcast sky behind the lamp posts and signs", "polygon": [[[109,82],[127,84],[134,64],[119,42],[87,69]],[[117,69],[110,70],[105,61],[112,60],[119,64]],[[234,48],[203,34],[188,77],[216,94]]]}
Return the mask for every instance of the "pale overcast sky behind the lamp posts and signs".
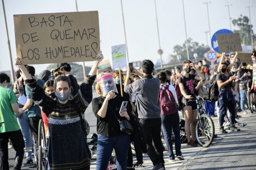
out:
{"label": "pale overcast sky behind the lamp posts and signs", "polygon": [[[199,43],[206,42],[206,31],[209,31],[208,16],[204,0],[184,0],[187,36]],[[111,46],[125,43],[123,20],[120,0],[77,0],[78,11],[99,11],[101,50],[105,59],[111,59]],[[0,71],[10,70],[7,31],[4,24],[2,1],[0,2]],[[256,1],[255,0],[212,0],[209,3],[211,35],[219,29],[230,29],[230,17],[238,18],[241,15],[249,17],[251,8],[252,24],[256,32]],[[39,14],[51,12],[76,11],[75,0],[4,0],[5,12],[10,37],[13,61],[16,56],[14,20],[15,14]],[[156,0],[159,21],[160,43],[163,49],[163,61],[170,60],[173,47],[185,41],[184,15],[181,0]],[[157,61],[159,41],[157,38],[156,15],[154,0],[123,0],[124,18],[126,26],[127,46],[131,61],[150,59]],[[232,30],[237,29],[232,25]],[[208,34],[210,44],[210,37]],[[60,61],[61,62],[61,61]],[[86,62],[91,66],[92,62]],[[36,74],[45,70],[47,65],[34,65]],[[16,67],[14,67],[17,70]]]}

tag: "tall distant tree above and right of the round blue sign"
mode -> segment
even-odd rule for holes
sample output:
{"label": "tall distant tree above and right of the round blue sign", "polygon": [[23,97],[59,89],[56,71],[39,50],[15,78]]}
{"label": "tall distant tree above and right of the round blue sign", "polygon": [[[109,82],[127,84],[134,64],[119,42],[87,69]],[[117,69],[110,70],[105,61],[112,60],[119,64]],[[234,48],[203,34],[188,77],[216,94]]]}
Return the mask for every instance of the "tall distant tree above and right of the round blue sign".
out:
{"label": "tall distant tree above and right of the round blue sign", "polygon": [[[240,15],[239,18],[232,20],[234,26],[237,26],[239,30],[234,30],[234,33],[240,33],[241,43],[243,45],[251,45],[251,29],[252,25],[249,24],[249,18],[247,16]],[[255,41],[256,35],[253,33],[252,29],[253,40]]]}

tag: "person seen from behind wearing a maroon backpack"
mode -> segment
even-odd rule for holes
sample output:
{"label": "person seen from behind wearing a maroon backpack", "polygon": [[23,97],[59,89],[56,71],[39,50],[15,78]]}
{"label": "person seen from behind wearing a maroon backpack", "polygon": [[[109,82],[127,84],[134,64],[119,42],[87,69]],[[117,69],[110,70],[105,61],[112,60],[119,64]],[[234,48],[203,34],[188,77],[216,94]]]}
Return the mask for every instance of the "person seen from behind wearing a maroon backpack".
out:
{"label": "person seen from behind wearing a maroon backpack", "polygon": [[164,71],[157,74],[160,79],[159,102],[161,107],[161,120],[164,140],[168,148],[170,160],[175,160],[173,153],[172,131],[174,133],[175,153],[179,160],[184,160],[181,154],[180,141],[180,117],[177,110],[178,98],[172,84],[167,83],[167,75]]}

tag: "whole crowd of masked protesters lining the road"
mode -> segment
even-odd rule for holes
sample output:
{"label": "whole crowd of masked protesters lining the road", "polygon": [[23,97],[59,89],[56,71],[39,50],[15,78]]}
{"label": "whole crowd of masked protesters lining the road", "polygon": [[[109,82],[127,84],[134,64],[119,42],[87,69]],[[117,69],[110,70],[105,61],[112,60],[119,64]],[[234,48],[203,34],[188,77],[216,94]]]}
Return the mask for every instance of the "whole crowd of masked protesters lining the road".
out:
{"label": "whole crowd of masked protesters lining the road", "polygon": [[[50,169],[90,169],[91,154],[83,114],[91,102],[97,119],[96,169],[107,169],[113,149],[117,169],[142,165],[143,153],[148,154],[153,170],[165,169],[167,160],[163,158],[161,133],[168,159],[184,160],[178,111],[184,112],[187,146],[198,146],[197,97],[205,100],[206,114],[218,116],[221,134],[228,133],[227,130],[240,131],[236,118],[239,112],[247,112],[246,92],[256,91],[255,51],[251,57],[252,66],[241,62],[237,52],[230,56],[223,53],[215,68],[206,60],[196,63],[186,60],[182,69],[175,66],[156,74],[153,62],[143,60],[139,71],[128,67],[126,74],[113,71],[96,75],[103,59],[99,52],[98,60],[81,85],[70,74],[68,63],[58,64],[52,72],[45,70],[39,79],[33,66],[23,65],[16,58],[19,70],[13,89],[7,88],[8,75],[0,73],[0,169],[9,169],[8,142],[16,152],[14,169],[33,165],[33,151],[26,148],[38,149],[40,119],[46,126]],[[93,97],[95,80],[99,97]],[[218,96],[211,99],[209,89],[214,84]],[[120,111],[124,101],[127,107]],[[120,128],[123,122],[132,126],[131,133]],[[131,144],[135,147],[136,163],[133,163]],[[26,161],[22,164],[24,154]]]}

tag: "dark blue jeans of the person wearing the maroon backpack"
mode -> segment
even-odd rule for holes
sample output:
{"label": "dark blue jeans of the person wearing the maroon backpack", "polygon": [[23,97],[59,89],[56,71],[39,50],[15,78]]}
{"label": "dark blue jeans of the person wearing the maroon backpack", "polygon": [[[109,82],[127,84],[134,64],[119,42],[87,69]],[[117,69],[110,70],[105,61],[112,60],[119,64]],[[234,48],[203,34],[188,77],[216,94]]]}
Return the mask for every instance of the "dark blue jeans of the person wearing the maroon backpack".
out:
{"label": "dark blue jeans of the person wearing the maroon backpack", "polygon": [[172,157],[174,156],[172,131],[174,133],[176,156],[180,156],[181,155],[181,141],[180,141],[179,113],[176,112],[173,115],[161,115],[161,119],[162,119],[162,129],[163,129],[164,141],[166,142],[166,145],[168,148],[169,158],[172,159]]}

